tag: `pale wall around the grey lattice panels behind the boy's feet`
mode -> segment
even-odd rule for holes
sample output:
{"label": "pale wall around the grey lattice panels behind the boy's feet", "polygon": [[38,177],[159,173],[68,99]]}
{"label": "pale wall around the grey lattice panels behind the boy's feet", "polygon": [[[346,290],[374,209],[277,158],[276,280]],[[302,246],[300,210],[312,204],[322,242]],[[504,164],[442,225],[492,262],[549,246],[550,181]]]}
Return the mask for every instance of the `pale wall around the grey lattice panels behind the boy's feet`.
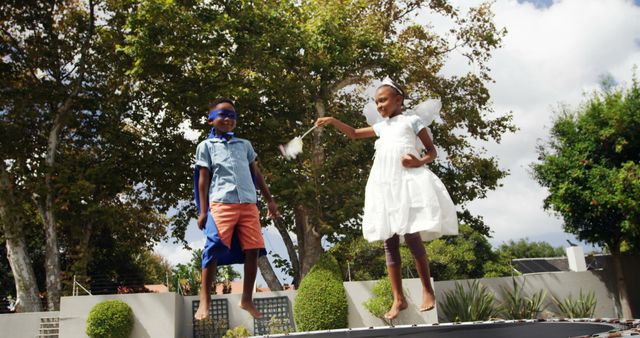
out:
{"label": "pale wall around the grey lattice panels behind the boy's feet", "polygon": [[[291,309],[293,317],[293,300],[296,296],[296,291],[278,291],[278,292],[257,292],[253,294],[255,298],[268,298],[268,297],[281,297],[285,296],[289,298],[289,308]],[[213,295],[212,299],[227,299],[229,302],[229,328],[236,326],[244,326],[249,332],[253,333],[253,317],[238,307],[240,304],[240,294],[227,294],[227,295]],[[181,302],[181,317],[180,317],[180,332],[177,337],[180,338],[193,338],[193,310],[191,304],[194,300],[198,300],[198,296],[186,296],[182,298]]]}

